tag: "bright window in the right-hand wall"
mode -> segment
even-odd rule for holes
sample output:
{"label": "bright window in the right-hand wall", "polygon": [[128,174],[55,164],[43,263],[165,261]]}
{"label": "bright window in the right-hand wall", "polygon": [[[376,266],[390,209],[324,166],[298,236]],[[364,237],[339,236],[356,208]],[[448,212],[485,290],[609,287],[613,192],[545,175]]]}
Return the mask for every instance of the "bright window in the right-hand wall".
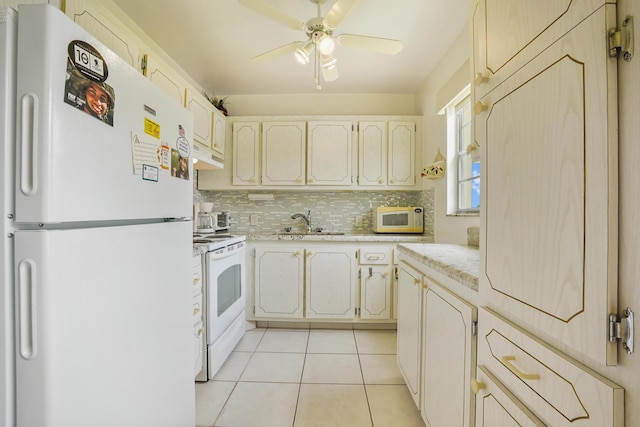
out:
{"label": "bright window in the right-hand wall", "polygon": [[472,111],[469,87],[445,108],[447,114],[447,213],[477,215],[480,211],[480,159],[472,145]]}

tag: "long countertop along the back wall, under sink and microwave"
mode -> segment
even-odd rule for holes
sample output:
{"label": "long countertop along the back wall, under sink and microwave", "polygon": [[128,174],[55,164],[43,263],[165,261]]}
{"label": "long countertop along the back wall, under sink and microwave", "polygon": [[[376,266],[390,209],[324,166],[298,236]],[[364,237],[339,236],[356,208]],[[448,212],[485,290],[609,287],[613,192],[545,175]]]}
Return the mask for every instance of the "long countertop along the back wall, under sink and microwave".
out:
{"label": "long countertop along the back wall, under sink and microwave", "polygon": [[262,233],[247,234],[247,240],[261,241],[312,241],[312,242],[381,242],[381,243],[430,243],[433,236],[424,234],[287,234]]}

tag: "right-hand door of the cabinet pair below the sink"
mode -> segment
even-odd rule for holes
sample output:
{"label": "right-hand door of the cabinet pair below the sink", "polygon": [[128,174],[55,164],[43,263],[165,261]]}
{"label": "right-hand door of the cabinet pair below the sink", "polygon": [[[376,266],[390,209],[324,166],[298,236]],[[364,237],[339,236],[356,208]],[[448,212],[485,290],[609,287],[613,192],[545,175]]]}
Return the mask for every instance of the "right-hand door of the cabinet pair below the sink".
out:
{"label": "right-hand door of the cabinet pair below the sink", "polygon": [[306,250],[306,317],[352,319],[355,316],[355,248]]}

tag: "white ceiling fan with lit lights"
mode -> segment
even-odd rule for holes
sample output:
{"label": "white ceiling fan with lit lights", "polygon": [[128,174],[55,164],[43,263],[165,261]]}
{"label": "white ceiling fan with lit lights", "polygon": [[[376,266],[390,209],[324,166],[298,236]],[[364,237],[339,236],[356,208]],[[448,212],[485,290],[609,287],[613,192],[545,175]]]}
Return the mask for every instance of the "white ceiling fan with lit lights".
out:
{"label": "white ceiling fan with lit lights", "polygon": [[358,34],[334,35],[335,28],[355,8],[360,0],[336,0],[324,17],[322,17],[321,6],[325,0],[310,0],[317,5],[318,15],[307,22],[302,22],[263,0],[238,1],[240,4],[267,18],[294,30],[304,31],[307,34],[307,40],[294,41],[280,46],[252,58],[252,61],[265,62],[281,55],[295,53],[298,62],[308,64],[311,56],[315,54],[314,83],[316,83],[317,89],[322,89],[320,86],[320,70],[325,81],[333,81],[338,78],[337,59],[333,56],[336,45],[388,55],[395,55],[402,50],[402,42],[400,40]]}

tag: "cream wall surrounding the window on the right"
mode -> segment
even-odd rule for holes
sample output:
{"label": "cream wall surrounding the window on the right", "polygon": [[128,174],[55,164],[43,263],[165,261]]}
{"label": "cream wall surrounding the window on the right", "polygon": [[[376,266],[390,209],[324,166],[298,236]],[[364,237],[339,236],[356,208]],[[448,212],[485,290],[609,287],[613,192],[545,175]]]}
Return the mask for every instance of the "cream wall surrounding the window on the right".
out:
{"label": "cream wall surrounding the window on the right", "polygon": [[[438,115],[438,111],[457,92],[452,88],[462,89],[469,81],[460,81],[460,69],[469,59],[469,28],[465,26],[456,41],[449,48],[446,55],[429,74],[416,97],[416,108],[424,116],[424,165],[433,162],[440,148],[440,152],[447,153],[447,123],[446,116]],[[463,73],[464,75],[464,73]],[[471,76],[469,70],[467,75]],[[440,105],[442,104],[442,105]],[[447,159],[448,161],[449,159]],[[467,243],[467,227],[478,227],[480,219],[477,216],[460,217],[447,215],[447,180],[446,178],[430,180],[424,178],[424,188],[433,187],[435,190],[435,241],[437,243]]]}

